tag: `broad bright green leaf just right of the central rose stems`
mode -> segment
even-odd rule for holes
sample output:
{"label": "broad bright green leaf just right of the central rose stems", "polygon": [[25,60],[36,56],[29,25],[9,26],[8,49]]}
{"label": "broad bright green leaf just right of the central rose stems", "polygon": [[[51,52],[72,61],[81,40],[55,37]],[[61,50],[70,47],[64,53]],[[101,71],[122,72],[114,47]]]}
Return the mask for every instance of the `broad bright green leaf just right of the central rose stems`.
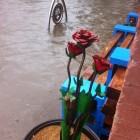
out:
{"label": "broad bright green leaf just right of the central rose stems", "polygon": [[76,103],[76,116],[78,116],[79,112],[84,114],[88,111],[93,101],[93,97],[90,92],[85,93],[85,90],[80,92],[77,103]]}

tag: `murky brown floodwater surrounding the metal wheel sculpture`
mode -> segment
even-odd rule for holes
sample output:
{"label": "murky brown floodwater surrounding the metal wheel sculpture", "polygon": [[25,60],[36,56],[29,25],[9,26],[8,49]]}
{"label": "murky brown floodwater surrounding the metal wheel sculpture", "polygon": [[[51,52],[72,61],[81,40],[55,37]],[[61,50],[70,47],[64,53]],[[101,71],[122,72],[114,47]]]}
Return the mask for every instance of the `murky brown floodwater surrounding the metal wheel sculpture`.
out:
{"label": "murky brown floodwater surrounding the metal wheel sculpture", "polygon": [[[84,68],[125,23],[138,0],[66,0],[68,22],[48,28],[50,0],[0,0],[0,140],[22,140],[37,124],[61,117],[59,88],[67,78],[67,41],[77,29],[101,38]],[[64,21],[63,21],[64,22]],[[80,58],[71,68],[76,74]]]}

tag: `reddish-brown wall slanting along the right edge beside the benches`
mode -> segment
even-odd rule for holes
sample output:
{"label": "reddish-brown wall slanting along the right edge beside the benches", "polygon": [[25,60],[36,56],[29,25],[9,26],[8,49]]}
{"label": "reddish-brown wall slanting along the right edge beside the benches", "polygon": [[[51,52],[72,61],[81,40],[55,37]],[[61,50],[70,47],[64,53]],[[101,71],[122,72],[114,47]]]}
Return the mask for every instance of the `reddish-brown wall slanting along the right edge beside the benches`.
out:
{"label": "reddish-brown wall slanting along the right edge beside the benches", "polygon": [[140,18],[109,140],[140,140]]}

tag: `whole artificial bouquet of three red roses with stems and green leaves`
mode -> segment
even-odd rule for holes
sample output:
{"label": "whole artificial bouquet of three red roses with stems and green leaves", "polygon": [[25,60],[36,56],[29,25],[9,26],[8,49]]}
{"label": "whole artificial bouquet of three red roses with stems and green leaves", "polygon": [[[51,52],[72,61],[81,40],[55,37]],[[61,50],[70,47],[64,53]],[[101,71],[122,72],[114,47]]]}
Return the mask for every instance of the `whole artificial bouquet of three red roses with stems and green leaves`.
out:
{"label": "whole artificial bouquet of three red roses with stems and green leaves", "polygon": [[[69,57],[67,64],[67,73],[69,78],[69,83],[67,90],[60,89],[62,93],[62,102],[63,102],[63,112],[64,118],[61,123],[61,140],[80,140],[81,131],[83,126],[87,123],[88,117],[93,111],[94,98],[98,95],[103,97],[105,93],[101,93],[100,84],[98,84],[95,89],[96,94],[92,96],[92,86],[97,74],[102,74],[106,70],[111,68],[111,64],[105,60],[103,57],[94,55],[93,56],[93,76],[91,83],[88,89],[88,92],[85,90],[80,90],[80,87],[83,84],[83,78],[80,77],[81,69],[86,56],[86,48],[90,47],[94,42],[99,42],[99,38],[91,31],[87,30],[78,30],[72,35],[74,42],[68,42],[66,48],[66,54]],[[82,55],[82,60],[77,72],[77,77],[74,79],[76,90],[71,85],[71,73],[70,73],[70,64],[72,59],[78,55]],[[71,132],[73,128],[73,132]]]}

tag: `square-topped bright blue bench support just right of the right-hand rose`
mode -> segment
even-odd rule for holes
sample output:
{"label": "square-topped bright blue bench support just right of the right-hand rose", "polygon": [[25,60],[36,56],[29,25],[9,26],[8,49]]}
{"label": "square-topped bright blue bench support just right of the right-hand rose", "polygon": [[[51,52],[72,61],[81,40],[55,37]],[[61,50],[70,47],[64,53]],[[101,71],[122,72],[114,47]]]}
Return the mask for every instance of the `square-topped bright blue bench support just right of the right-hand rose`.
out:
{"label": "square-topped bright blue bench support just right of the right-hand rose", "polygon": [[[110,63],[112,65],[116,64],[119,66],[127,67],[130,61],[130,52],[131,52],[130,49],[116,47],[110,56]],[[112,72],[113,72],[112,69],[108,71],[107,82],[106,82],[107,86],[111,81]]]}

